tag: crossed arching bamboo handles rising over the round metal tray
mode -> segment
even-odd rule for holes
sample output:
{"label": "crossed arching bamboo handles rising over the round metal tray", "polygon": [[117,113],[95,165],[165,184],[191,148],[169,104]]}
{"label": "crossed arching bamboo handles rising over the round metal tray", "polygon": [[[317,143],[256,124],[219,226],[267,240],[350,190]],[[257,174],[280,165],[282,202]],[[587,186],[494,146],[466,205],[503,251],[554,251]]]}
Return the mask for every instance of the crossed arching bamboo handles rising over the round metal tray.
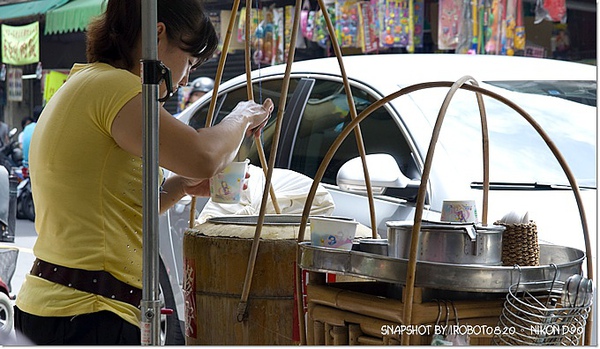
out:
{"label": "crossed arching bamboo handles rising over the round metal tray", "polygon": [[[593,279],[592,250],[591,250],[591,246],[590,246],[589,229],[588,229],[588,225],[587,225],[587,219],[586,219],[585,211],[583,208],[583,199],[581,197],[581,193],[579,191],[577,181],[576,181],[575,177],[573,176],[571,169],[567,165],[566,160],[564,159],[564,157],[562,156],[562,154],[560,153],[560,151],[558,150],[558,148],[556,147],[554,142],[552,142],[552,140],[550,139],[548,134],[525,110],[523,110],[521,107],[519,107],[518,105],[516,105],[515,103],[511,102],[510,100],[506,99],[505,97],[503,97],[501,95],[498,95],[494,92],[491,92],[489,90],[486,90],[486,89],[481,88],[476,85],[465,84],[465,82],[467,82],[468,80],[471,80],[471,79],[472,78],[470,78],[470,77],[464,77],[454,83],[439,81],[439,82],[415,84],[415,85],[411,85],[411,86],[402,88],[402,89],[398,90],[397,92],[392,93],[392,94],[374,102],[373,104],[371,104],[362,113],[360,113],[360,115],[358,115],[358,117],[356,119],[352,120],[341,131],[341,133],[338,135],[338,137],[334,140],[333,144],[329,148],[329,151],[325,154],[325,157],[323,158],[323,161],[321,162],[321,165],[319,166],[317,173],[315,174],[313,185],[311,186],[311,189],[309,191],[309,194],[308,194],[308,197],[306,200],[306,204],[304,206],[302,220],[300,223],[300,230],[298,233],[298,247],[297,247],[297,260],[296,260],[296,263],[298,265],[298,270],[296,273],[296,289],[297,290],[301,289],[300,288],[300,286],[301,286],[301,276],[300,276],[301,270],[299,267],[300,266],[300,253],[299,253],[300,247],[299,246],[300,246],[300,243],[302,241],[304,241],[304,233],[306,230],[308,217],[310,215],[310,206],[312,205],[312,201],[316,194],[318,184],[321,181],[323,174],[325,173],[325,169],[327,168],[329,162],[333,158],[333,154],[337,151],[337,149],[341,145],[342,141],[348,136],[348,134],[352,131],[352,129],[354,127],[356,127],[362,120],[364,120],[367,116],[369,116],[373,111],[382,107],[385,103],[388,103],[389,101],[391,101],[395,98],[398,98],[400,96],[403,96],[403,95],[411,93],[411,92],[415,92],[415,91],[426,89],[426,88],[434,88],[434,87],[450,87],[451,91],[449,91],[448,95],[446,96],[446,99],[444,100],[444,103],[443,103],[440,113],[438,115],[438,119],[436,121],[436,125],[434,127],[432,140],[431,140],[428,152],[427,152],[427,157],[426,157],[427,160],[425,162],[423,175],[421,177],[421,185],[419,187],[419,192],[417,195],[417,207],[416,207],[416,212],[415,212],[415,221],[414,221],[413,231],[412,231],[412,235],[411,235],[409,267],[407,270],[407,285],[406,285],[407,297],[405,299],[405,304],[404,304],[404,306],[405,306],[405,308],[404,308],[404,324],[410,325],[411,320],[412,320],[414,279],[415,279],[415,271],[416,271],[416,263],[417,263],[416,247],[418,246],[418,238],[419,238],[418,232],[420,230],[421,216],[422,216],[424,203],[425,203],[425,192],[427,189],[427,182],[429,180],[428,177],[429,177],[429,172],[430,172],[430,168],[431,168],[431,161],[433,159],[433,151],[434,151],[435,143],[436,143],[438,135],[439,135],[439,131],[441,128],[443,118],[445,116],[446,108],[447,108],[448,104],[450,103],[450,99],[454,95],[454,92],[459,88],[477,93],[477,100],[479,103],[480,114],[481,114],[481,119],[482,119],[482,138],[483,138],[484,153],[486,152],[485,149],[487,147],[487,144],[486,144],[487,143],[487,122],[485,119],[485,110],[483,109],[483,103],[481,103],[480,95],[486,95],[488,97],[494,98],[494,99],[504,103],[508,107],[512,108],[513,110],[515,110],[518,114],[520,114],[523,118],[525,118],[525,120],[527,122],[529,122],[529,124],[538,132],[540,137],[544,140],[546,145],[550,148],[553,155],[559,162],[561,168],[565,172],[565,175],[567,176],[567,178],[569,180],[569,184],[571,185],[573,194],[575,196],[575,201],[578,206],[579,216],[581,218],[581,225],[582,225],[582,229],[583,229],[583,237],[584,237],[586,257],[587,257],[588,278]],[[487,162],[488,162],[488,159],[484,159],[484,168],[487,167]],[[485,173],[485,170],[484,170],[484,177],[489,178],[487,176],[488,175]],[[489,179],[487,181],[489,181]],[[486,192],[489,190],[489,187],[486,188],[487,185],[489,185],[489,183],[484,185],[484,195],[487,195]],[[487,198],[484,201],[484,217],[485,217],[484,219],[487,220]],[[300,312],[300,314],[302,314],[303,309],[302,309],[302,298],[301,297],[298,297],[297,307],[298,307],[298,311]],[[300,325],[300,334],[301,334],[301,341],[302,341],[301,344],[306,344],[306,337],[305,337],[305,332],[306,332],[305,327],[306,326],[305,326],[303,317],[300,316],[299,318],[300,318],[300,324],[299,324]],[[592,319],[592,317],[589,317],[588,322],[586,323],[586,338],[585,338],[586,344],[589,344],[591,341],[591,327],[592,327],[591,319]],[[402,344],[408,344],[408,340],[409,340],[408,336],[403,336]]]}

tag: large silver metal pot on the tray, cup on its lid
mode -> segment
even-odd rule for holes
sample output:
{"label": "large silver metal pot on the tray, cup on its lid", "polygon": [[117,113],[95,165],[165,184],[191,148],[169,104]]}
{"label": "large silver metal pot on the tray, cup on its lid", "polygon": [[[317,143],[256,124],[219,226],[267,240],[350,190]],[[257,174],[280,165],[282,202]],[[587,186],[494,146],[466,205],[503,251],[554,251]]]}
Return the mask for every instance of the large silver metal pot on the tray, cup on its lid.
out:
{"label": "large silver metal pot on the tray, cup on its lid", "polygon": [[[388,256],[408,259],[412,221],[387,222]],[[423,221],[417,260],[450,264],[502,265],[502,233],[499,225]]]}

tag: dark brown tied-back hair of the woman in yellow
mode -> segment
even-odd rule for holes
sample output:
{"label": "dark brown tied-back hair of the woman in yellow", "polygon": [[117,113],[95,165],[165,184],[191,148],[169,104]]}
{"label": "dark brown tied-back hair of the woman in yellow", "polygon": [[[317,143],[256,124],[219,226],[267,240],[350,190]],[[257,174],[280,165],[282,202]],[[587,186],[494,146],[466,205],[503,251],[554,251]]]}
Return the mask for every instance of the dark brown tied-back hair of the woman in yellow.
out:
{"label": "dark brown tied-back hair of the woman in yellow", "polygon": [[[197,65],[212,57],[218,37],[201,0],[158,0],[157,5],[157,21],[165,24],[169,41],[199,58]],[[141,0],[108,0],[106,12],[87,28],[88,62],[132,69],[141,29]]]}

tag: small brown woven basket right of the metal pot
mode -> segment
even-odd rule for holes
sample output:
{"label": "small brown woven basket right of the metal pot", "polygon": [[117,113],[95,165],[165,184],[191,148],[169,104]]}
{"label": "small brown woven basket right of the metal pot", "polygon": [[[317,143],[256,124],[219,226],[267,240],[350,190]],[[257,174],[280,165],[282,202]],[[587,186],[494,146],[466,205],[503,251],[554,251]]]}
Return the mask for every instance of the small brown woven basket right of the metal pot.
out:
{"label": "small brown woven basket right of the metal pot", "polygon": [[502,264],[505,266],[539,266],[540,245],[535,222],[505,224],[502,234]]}

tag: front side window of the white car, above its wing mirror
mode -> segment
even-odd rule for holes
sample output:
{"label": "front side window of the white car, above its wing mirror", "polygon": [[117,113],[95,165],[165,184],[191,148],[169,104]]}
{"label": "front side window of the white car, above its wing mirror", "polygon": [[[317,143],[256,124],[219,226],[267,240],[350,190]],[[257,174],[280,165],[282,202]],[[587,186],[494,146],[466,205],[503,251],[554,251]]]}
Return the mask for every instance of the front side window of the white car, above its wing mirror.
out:
{"label": "front side window of the white car, above its wing mirror", "polygon": [[[357,114],[376,101],[375,97],[358,87],[352,87],[352,96]],[[313,177],[331,145],[350,121],[350,109],[342,82],[317,80],[295,140],[292,169]],[[379,108],[369,115],[360,123],[360,130],[367,154],[390,154],[405,175],[420,177],[405,137],[386,109]],[[356,136],[352,132],[334,154],[322,181],[335,184],[340,167],[357,156]]]}

